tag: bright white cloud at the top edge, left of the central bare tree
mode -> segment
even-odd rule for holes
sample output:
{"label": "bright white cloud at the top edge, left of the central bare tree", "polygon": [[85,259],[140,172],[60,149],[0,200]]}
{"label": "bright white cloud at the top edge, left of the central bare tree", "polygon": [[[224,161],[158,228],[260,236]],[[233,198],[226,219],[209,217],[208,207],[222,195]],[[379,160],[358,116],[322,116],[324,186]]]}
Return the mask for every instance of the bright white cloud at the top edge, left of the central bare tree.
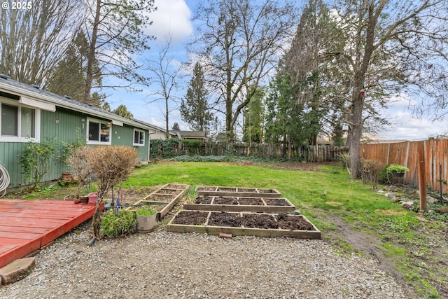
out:
{"label": "bright white cloud at the top edge, left of the central bare tree", "polygon": [[171,34],[174,42],[181,42],[193,33],[191,11],[184,0],[155,0],[155,6],[157,11],[149,15],[153,25],[146,29],[146,34],[162,41]]}

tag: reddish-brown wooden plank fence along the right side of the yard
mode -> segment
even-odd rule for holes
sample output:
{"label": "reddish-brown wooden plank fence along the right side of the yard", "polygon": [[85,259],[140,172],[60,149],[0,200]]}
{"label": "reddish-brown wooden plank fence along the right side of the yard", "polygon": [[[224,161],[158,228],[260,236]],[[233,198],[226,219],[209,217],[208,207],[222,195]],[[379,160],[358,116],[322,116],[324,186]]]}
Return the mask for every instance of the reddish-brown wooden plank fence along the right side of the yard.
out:
{"label": "reddish-brown wooden plank fence along the right side of the yard", "polygon": [[[419,186],[419,142],[423,142],[425,149],[426,183],[433,190],[440,192],[440,181],[437,180],[440,180],[440,177],[444,181],[448,179],[448,139],[361,144],[360,154],[365,159],[380,160],[384,166],[405,165],[409,172],[405,173],[402,182]],[[442,183],[442,192],[447,193],[447,190],[447,185]]]}

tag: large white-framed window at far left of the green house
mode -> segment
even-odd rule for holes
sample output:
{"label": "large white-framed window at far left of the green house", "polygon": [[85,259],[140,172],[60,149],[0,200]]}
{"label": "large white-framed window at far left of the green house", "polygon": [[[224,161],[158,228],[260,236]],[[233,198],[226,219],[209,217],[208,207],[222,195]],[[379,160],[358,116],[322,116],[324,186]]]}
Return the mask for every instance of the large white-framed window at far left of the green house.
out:
{"label": "large white-framed window at far left of the green house", "polygon": [[0,141],[38,141],[38,109],[0,99]]}

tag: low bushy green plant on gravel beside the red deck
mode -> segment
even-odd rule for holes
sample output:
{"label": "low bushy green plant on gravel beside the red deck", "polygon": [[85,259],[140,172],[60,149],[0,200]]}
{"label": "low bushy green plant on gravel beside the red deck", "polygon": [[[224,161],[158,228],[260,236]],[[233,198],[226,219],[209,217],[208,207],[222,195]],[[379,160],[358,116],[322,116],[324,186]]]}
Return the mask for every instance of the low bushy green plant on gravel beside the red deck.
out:
{"label": "low bushy green plant on gravel beside the red deck", "polygon": [[102,218],[104,235],[109,237],[119,237],[134,231],[137,216],[132,211],[121,210],[117,215],[116,211],[109,211]]}

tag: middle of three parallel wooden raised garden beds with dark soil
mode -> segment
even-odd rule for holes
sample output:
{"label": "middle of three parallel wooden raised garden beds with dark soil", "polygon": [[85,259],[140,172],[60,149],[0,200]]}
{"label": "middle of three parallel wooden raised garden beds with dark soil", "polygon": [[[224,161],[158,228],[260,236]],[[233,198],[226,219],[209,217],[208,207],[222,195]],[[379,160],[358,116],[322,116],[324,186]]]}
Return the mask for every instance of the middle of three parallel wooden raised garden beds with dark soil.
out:
{"label": "middle of three parallel wooden raised garden beds with dark soil", "polygon": [[195,211],[252,211],[264,213],[288,213],[295,210],[286,198],[223,197],[200,195],[194,204],[183,204],[183,208]]}

